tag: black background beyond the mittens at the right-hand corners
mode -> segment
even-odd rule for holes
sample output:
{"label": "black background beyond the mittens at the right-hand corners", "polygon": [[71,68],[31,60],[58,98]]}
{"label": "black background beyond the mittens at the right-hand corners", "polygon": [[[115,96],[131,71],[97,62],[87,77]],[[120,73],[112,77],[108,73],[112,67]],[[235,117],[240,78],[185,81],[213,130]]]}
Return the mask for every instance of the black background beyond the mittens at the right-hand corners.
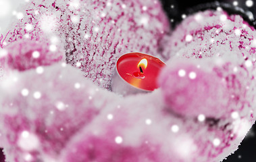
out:
{"label": "black background beyond the mittens at the right-hand corners", "polygon": [[[213,2],[215,1],[209,1],[209,0],[161,0],[163,3],[163,7],[168,14],[170,18],[170,23],[172,24],[173,27],[175,27],[181,20],[182,20],[182,14],[188,15],[189,13],[193,13],[199,8],[204,8],[207,9],[207,7],[211,7]],[[254,1],[253,7],[247,7],[245,5],[246,0],[237,0],[238,5],[237,7],[242,8],[245,12],[246,11],[251,11],[252,14],[256,17],[256,0]],[[219,1],[220,3],[226,3],[230,4],[231,12],[232,8],[234,9],[234,12],[236,12],[237,7],[233,6],[234,1],[230,0],[225,0],[225,1]],[[211,5],[206,5],[206,3],[211,3]],[[197,6],[197,7],[196,7]],[[193,8],[193,9],[191,9]],[[245,12],[241,12],[240,14],[247,19]],[[256,24],[254,20],[249,20],[251,24]],[[1,150],[0,150],[0,162],[3,162],[4,158],[1,155]],[[110,162],[110,161],[109,161]],[[207,162],[207,161],[205,161]],[[238,150],[230,155],[226,160],[223,162],[256,162],[256,126],[254,125],[253,128],[249,131],[247,134],[246,138],[242,140],[242,143],[240,144]]]}

